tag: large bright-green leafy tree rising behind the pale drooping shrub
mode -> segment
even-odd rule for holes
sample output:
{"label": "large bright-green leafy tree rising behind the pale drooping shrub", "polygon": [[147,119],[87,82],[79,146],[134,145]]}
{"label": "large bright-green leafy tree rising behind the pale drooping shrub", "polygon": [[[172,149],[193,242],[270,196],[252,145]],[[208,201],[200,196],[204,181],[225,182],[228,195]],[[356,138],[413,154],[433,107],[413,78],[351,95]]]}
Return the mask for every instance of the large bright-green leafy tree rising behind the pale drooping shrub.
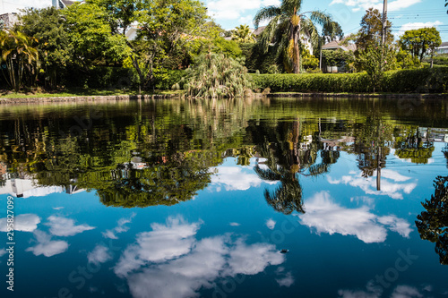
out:
{"label": "large bright-green leafy tree rising behind the pale drooping shrub", "polygon": [[202,36],[207,8],[197,0],[88,0],[105,14],[112,35],[125,38],[127,30],[138,27],[137,38],[125,42],[129,65],[137,72],[139,85],[153,87],[155,72],[173,52],[187,41]]}

